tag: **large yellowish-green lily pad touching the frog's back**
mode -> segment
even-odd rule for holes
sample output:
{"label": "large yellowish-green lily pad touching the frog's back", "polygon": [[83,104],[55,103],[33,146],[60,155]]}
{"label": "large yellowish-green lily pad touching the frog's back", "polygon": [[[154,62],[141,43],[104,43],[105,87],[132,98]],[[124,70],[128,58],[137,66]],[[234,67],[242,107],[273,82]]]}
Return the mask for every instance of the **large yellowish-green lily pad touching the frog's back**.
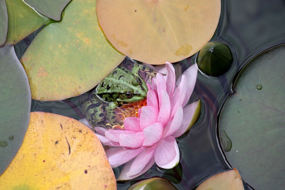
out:
{"label": "large yellowish-green lily pad touching the frog's back", "polygon": [[62,21],[38,33],[21,61],[32,98],[52,101],[90,90],[123,59],[100,30],[96,0],[74,0]]}

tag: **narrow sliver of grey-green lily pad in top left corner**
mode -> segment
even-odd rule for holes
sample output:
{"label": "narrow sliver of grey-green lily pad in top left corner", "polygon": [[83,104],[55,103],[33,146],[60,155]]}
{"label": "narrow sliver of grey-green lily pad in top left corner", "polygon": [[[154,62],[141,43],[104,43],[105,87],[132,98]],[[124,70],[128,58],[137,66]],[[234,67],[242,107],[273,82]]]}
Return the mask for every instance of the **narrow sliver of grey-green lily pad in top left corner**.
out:
{"label": "narrow sliver of grey-green lily pad in top left corner", "polygon": [[4,0],[0,1],[0,47],[6,42],[8,30],[8,14],[6,3]]}

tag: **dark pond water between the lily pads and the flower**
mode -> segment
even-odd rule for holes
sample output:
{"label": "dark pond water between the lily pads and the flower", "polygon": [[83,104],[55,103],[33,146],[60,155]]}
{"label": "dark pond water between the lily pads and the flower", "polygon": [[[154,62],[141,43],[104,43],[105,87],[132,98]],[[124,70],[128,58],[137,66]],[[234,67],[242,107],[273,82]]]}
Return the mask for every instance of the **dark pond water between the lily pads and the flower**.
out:
{"label": "dark pond water between the lily pads and the flower", "polygon": [[[198,71],[190,102],[200,98],[202,110],[199,120],[191,130],[177,138],[180,163],[173,169],[161,169],[154,164],[135,181],[157,176],[170,180],[178,189],[193,189],[208,177],[232,168],[221,150],[217,136],[219,112],[227,97],[234,93],[233,82],[241,68],[263,50],[285,43],[284,23],[284,0],[222,1],[219,25],[211,41],[228,45],[234,62],[229,71],[219,77],[207,76]],[[19,58],[38,31],[15,45]],[[176,67],[181,68],[182,73],[195,63],[196,56],[197,54],[175,63]],[[55,102],[32,100],[31,111],[50,112],[77,120],[84,117],[77,97]],[[114,169],[116,177],[121,168]],[[134,181],[129,180],[118,183],[117,186],[118,189],[128,189],[133,183]],[[246,188],[251,189],[247,185]]]}

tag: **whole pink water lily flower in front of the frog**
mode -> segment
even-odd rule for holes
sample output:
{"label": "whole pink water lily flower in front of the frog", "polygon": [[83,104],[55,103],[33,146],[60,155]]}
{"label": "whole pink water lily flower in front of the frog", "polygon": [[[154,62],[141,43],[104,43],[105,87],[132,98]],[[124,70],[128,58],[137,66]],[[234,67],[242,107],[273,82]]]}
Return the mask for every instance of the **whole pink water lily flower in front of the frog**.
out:
{"label": "whole pink water lily flower in front of the frog", "polygon": [[154,163],[165,169],[178,164],[175,138],[188,130],[198,105],[197,101],[185,106],[193,92],[197,70],[197,65],[192,65],[176,83],[174,67],[166,62],[159,71],[166,75],[158,73],[148,84],[147,106],[138,110],[138,117],[125,118],[125,130],[95,128],[100,141],[113,146],[106,151],[111,167],[125,163],[117,180],[142,175]]}

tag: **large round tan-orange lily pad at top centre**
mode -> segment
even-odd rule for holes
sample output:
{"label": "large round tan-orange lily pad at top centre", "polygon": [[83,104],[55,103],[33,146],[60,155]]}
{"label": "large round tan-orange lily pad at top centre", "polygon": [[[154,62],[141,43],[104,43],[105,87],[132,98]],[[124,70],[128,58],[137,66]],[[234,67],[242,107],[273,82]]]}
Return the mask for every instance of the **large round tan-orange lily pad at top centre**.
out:
{"label": "large round tan-orange lily pad at top centre", "polygon": [[183,60],[213,36],[220,0],[98,0],[106,37],[123,54],[148,63]]}

